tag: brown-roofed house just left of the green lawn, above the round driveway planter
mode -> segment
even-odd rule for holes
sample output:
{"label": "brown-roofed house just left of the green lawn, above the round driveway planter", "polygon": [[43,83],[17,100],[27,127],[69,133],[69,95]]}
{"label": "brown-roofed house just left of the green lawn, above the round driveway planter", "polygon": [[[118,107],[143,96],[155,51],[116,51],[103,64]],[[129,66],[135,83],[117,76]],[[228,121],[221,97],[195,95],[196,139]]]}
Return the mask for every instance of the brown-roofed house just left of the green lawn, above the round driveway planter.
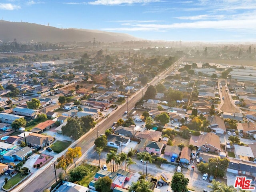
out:
{"label": "brown-roofed house just left of the green lawn, above the round driveway planter", "polygon": [[[20,141],[25,141],[25,139],[22,138]],[[37,134],[37,133],[30,133],[28,136],[26,136],[26,142],[28,146],[36,147],[38,149],[42,149],[46,146],[49,146],[54,141],[55,141],[55,137],[46,136],[46,135]]]}

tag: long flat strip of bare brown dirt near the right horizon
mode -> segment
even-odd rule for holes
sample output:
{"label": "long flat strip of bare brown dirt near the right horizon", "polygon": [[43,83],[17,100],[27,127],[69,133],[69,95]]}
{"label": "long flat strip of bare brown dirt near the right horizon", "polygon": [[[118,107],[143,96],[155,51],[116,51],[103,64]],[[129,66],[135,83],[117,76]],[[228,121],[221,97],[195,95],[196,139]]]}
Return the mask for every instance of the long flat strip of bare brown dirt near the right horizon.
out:
{"label": "long flat strip of bare brown dirt near the right horizon", "polygon": [[186,62],[192,63],[218,63],[218,64],[226,64],[226,65],[243,65],[243,66],[255,66],[254,60],[230,60],[230,59],[208,59],[208,58],[189,58],[186,59]]}

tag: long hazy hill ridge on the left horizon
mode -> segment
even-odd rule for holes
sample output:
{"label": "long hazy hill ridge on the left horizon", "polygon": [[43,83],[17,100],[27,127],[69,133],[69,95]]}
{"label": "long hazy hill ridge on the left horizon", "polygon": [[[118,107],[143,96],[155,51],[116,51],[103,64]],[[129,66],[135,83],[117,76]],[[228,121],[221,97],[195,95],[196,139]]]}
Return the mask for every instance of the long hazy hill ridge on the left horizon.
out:
{"label": "long hazy hill ridge on the left horizon", "polygon": [[36,42],[86,42],[93,41],[93,38],[101,42],[139,40],[138,38],[124,33],[75,28],[60,29],[34,23],[0,20],[0,40],[13,41],[14,38],[16,38],[18,42],[32,40]]}

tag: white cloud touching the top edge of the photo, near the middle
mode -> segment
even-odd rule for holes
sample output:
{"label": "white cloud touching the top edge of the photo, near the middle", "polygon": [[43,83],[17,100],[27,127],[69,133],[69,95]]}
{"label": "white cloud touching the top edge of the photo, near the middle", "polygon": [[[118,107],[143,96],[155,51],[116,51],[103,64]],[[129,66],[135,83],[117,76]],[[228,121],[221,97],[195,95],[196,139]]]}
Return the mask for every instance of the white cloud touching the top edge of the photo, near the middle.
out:
{"label": "white cloud touching the top edge of the photo, near the middle", "polygon": [[162,0],[96,0],[90,1],[91,5],[122,5],[122,4],[147,4],[153,2],[161,2]]}

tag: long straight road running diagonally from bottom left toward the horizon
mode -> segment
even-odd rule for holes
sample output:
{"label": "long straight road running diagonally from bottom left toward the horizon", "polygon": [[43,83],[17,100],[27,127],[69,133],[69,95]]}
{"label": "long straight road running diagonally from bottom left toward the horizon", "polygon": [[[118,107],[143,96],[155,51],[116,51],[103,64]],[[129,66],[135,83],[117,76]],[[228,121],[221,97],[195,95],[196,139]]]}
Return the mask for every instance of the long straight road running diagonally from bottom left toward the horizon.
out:
{"label": "long straight road running diagonally from bottom left toward the horizon", "polygon": [[[183,58],[179,59],[170,68],[174,68],[174,66],[177,66],[177,63],[182,62],[182,60]],[[162,72],[159,75],[159,80],[161,80],[162,78],[168,75],[167,71],[170,70],[170,68],[166,69],[164,72]],[[157,82],[158,82],[158,77],[155,77],[150,82],[150,84],[155,85],[157,84]],[[134,108],[136,102],[142,98],[142,90],[143,90],[143,93],[145,93],[146,87],[138,91],[134,97],[128,99],[128,111]],[[98,130],[98,136],[100,136],[100,134],[103,134],[105,130],[112,127],[113,122],[116,122],[118,119],[122,118],[126,110],[127,110],[126,104],[119,106],[118,109],[115,112],[112,112],[112,114],[110,114],[108,118],[100,122],[98,127],[96,125],[94,130],[82,136],[79,139],[79,142],[74,147],[81,147],[82,154],[86,153],[88,149],[94,145],[94,140],[97,137],[97,130]],[[57,177],[60,172],[61,170],[56,171]],[[39,176],[31,180],[24,188],[20,189],[19,192],[42,192],[44,189],[49,188],[54,182],[55,182],[55,175],[53,172],[53,167],[49,166],[45,168],[45,170]]]}

